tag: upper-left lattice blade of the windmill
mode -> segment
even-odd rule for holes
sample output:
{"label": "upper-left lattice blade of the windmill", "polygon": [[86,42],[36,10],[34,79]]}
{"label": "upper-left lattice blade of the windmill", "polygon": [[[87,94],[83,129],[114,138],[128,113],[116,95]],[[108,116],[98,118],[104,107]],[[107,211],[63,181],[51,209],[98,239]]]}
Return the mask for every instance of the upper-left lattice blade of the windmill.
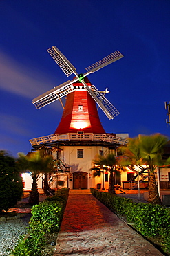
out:
{"label": "upper-left lattice blade of the windmill", "polygon": [[70,61],[67,60],[67,58],[63,55],[63,53],[61,53],[61,51],[59,51],[58,48],[56,48],[56,46],[52,46],[52,48],[49,48],[47,52],[50,53],[56,64],[59,65],[67,77],[72,75],[72,73],[77,75],[76,68],[74,68]]}

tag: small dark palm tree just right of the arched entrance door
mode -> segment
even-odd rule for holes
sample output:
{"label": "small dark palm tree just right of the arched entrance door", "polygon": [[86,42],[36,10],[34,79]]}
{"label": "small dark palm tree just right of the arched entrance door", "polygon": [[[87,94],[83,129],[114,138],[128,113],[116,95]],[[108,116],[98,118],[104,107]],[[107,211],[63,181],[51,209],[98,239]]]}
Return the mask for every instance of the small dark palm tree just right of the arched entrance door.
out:
{"label": "small dark palm tree just right of the arched entrance door", "polygon": [[115,194],[114,189],[114,173],[116,174],[118,170],[116,170],[116,157],[114,154],[108,154],[106,157],[98,156],[98,159],[93,161],[94,167],[90,170],[94,170],[94,176],[100,176],[104,170],[109,171],[109,190],[108,192]]}

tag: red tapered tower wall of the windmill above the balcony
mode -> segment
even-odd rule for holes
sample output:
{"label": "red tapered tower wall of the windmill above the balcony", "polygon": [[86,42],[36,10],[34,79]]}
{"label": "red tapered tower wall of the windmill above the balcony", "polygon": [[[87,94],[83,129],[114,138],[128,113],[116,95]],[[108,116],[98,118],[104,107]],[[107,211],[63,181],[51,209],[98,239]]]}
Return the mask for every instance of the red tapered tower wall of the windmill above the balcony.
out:
{"label": "red tapered tower wall of the windmill above the balcony", "polygon": [[[76,88],[77,85],[82,84],[76,83],[74,85]],[[79,105],[83,106],[83,111],[78,111]],[[85,127],[82,127],[82,129],[76,128],[76,122],[83,122],[82,125]],[[80,130],[85,133],[105,134],[98,116],[96,102],[87,91],[78,89],[67,95],[63,116],[55,133],[76,133]]]}

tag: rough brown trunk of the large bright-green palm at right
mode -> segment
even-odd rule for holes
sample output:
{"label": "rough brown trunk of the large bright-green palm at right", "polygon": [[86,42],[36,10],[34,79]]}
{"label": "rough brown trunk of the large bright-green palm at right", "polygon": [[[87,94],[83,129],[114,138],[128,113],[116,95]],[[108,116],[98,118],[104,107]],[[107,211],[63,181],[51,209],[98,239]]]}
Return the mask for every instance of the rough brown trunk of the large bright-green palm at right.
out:
{"label": "rough brown trunk of the large bright-green palm at right", "polygon": [[148,194],[148,202],[152,204],[161,204],[160,196],[158,194],[158,187],[156,185],[156,177],[154,172],[150,172],[149,178],[149,194]]}

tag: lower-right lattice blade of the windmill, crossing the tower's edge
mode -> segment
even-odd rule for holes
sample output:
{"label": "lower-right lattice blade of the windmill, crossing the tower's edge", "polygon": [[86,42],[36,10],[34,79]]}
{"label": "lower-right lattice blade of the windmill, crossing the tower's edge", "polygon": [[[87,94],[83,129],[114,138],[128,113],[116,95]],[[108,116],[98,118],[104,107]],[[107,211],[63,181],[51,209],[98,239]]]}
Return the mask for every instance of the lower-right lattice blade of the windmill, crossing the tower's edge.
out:
{"label": "lower-right lattice blade of the windmill, crossing the tower's edge", "polygon": [[100,104],[98,104],[98,106],[100,107],[100,109],[104,109],[103,112],[107,113],[107,117],[109,119],[114,119],[116,116],[118,116],[120,114],[120,112],[116,109],[116,107],[114,107],[109,100],[107,100],[107,98],[105,98],[105,96],[100,93],[100,91],[98,91],[98,89],[96,89],[96,87],[94,85],[91,86],[92,92],[94,93],[94,95],[96,95],[96,98],[98,98],[99,102],[101,104],[103,104],[103,107],[101,107]]}

